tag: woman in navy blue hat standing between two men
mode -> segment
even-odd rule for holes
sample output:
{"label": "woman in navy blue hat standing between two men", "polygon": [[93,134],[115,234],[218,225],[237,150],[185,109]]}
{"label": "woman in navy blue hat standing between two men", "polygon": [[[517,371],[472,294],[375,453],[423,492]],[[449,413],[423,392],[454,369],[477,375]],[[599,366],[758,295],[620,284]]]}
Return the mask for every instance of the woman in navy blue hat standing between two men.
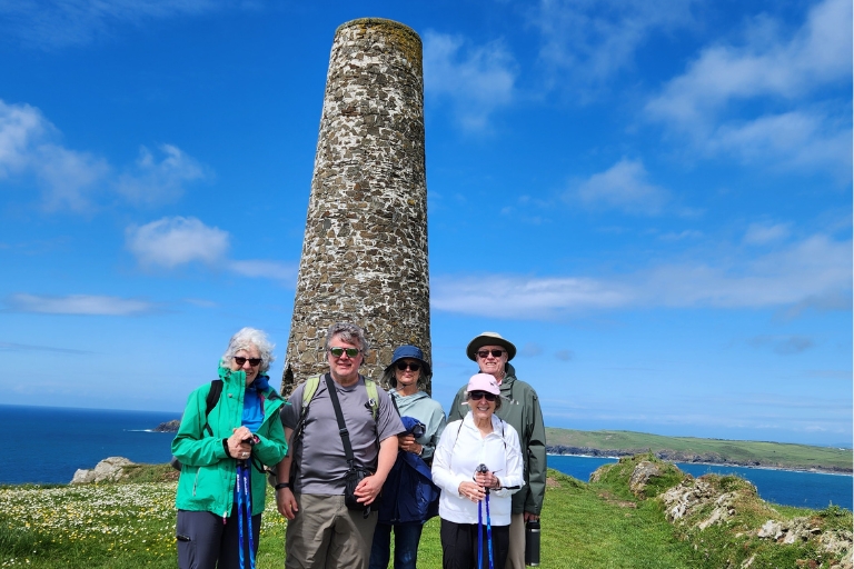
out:
{"label": "woman in navy blue hat standing between two men", "polygon": [[[426,483],[429,483],[429,470],[427,466],[433,462],[433,452],[445,429],[445,411],[441,406],[425,391],[427,381],[431,376],[430,365],[424,358],[424,352],[415,346],[400,346],[391,357],[391,363],[383,373],[381,385],[389,390],[391,400],[404,425],[417,425],[406,432],[398,435],[398,458],[395,469],[409,468],[407,473],[418,477],[421,472]],[[406,418],[413,419],[408,421]],[[406,457],[405,453],[411,456]],[[418,457],[418,459],[415,459]],[[406,461],[407,465],[403,465]],[[413,467],[413,468],[410,468]],[[395,470],[393,469],[393,471]],[[414,470],[413,470],[414,469]],[[427,517],[436,512],[418,512],[418,519],[408,519],[413,513],[413,505],[397,507],[397,501],[413,500],[409,492],[399,492],[391,488],[393,475],[383,488],[383,505],[379,510],[379,519],[374,531],[374,546],[370,551],[370,569],[386,569],[390,557],[391,529],[395,530],[395,569],[415,569],[418,556],[418,541],[421,538],[421,528]],[[395,479],[397,480],[397,478]],[[435,488],[435,487],[433,487]],[[429,489],[424,488],[429,492]],[[406,512],[401,516],[401,512]],[[406,519],[404,519],[406,518]]]}

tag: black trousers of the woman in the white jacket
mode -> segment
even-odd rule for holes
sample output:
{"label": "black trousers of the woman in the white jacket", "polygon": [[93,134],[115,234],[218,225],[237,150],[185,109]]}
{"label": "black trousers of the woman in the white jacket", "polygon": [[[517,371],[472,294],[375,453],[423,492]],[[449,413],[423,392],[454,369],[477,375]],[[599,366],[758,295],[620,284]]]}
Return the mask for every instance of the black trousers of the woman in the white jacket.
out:
{"label": "black trousers of the woman in the white jacket", "polygon": [[[477,532],[483,532],[484,567],[489,567],[489,547],[487,543],[486,523],[454,523],[441,520],[439,538],[441,539],[441,567],[444,569],[477,568]],[[507,562],[507,549],[510,545],[510,527],[493,526],[493,566],[504,568]]]}

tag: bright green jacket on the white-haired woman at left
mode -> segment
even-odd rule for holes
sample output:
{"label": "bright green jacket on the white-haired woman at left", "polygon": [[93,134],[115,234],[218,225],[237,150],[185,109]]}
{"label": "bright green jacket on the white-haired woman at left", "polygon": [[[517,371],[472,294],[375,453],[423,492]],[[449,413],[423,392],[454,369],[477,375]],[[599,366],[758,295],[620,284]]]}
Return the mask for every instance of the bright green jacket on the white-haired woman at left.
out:
{"label": "bright green jacket on the white-haired woman at left", "polygon": [[[246,372],[219,368],[219,377],[224,381],[222,395],[207,421],[205,399],[210,383],[190,393],[178,435],[172,440],[172,455],[182,465],[175,506],[179,510],[209,511],[225,518],[231,513],[235,502],[237,461],[226,453],[222,440],[241,425]],[[252,463],[274,466],[285,458],[288,443],[279,420],[284,405],[285,400],[275,389],[264,392],[264,422],[255,433],[259,441],[252,447]],[[206,422],[214,430],[212,436],[205,429]],[[255,466],[250,470],[252,515],[256,515],[264,511],[267,480]]]}

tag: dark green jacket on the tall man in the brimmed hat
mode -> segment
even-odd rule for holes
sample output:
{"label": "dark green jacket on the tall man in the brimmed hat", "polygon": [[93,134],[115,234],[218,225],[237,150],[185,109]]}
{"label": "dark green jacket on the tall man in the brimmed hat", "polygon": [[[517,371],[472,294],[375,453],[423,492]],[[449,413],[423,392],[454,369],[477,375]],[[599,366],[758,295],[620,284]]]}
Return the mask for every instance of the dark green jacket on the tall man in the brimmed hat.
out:
{"label": "dark green jacket on the tall man in the brimmed hat", "polygon": [[[546,426],[539,398],[534,388],[516,379],[516,370],[507,363],[502,380],[502,408],[495,415],[510,423],[519,435],[525,469],[525,486],[513,495],[513,513],[530,512],[539,516],[546,496]],[[448,413],[448,423],[468,413],[466,386],[457,391]],[[499,477],[500,478],[500,477]]]}

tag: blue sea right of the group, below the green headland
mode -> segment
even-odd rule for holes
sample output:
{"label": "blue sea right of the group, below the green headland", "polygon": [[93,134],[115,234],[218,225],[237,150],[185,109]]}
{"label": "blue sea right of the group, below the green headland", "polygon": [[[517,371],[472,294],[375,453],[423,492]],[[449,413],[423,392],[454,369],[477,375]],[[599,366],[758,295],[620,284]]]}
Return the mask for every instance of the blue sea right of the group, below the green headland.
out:
{"label": "blue sea right of the group, below the green headland", "polygon": [[[616,459],[549,455],[548,467],[587,481],[594,470]],[[824,509],[831,503],[852,509],[854,479],[846,475],[793,472],[763,468],[726,467],[676,462],[684,472],[698,477],[709,472],[735,475],[753,482],[763,500],[783,506]]]}

